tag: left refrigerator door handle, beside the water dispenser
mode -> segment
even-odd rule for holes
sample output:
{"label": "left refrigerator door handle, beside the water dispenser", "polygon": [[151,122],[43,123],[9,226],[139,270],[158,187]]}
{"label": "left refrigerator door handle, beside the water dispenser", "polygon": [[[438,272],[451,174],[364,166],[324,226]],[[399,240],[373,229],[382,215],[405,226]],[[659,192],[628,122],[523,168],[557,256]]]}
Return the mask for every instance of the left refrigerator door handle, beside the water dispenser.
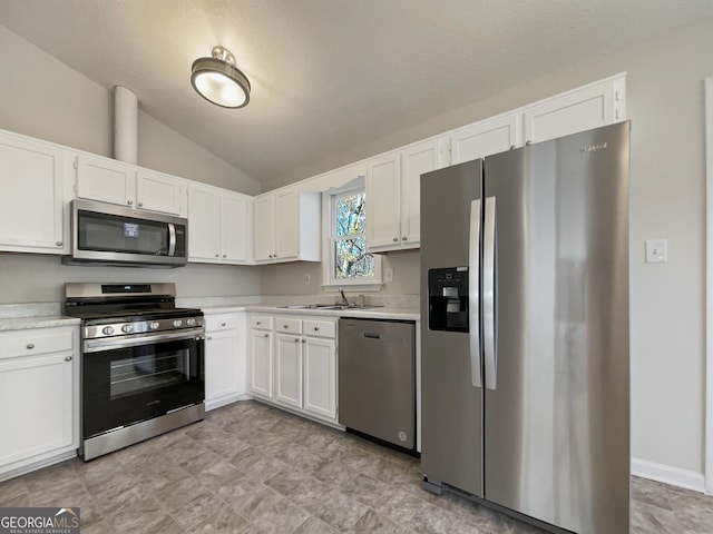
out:
{"label": "left refrigerator door handle, beside the water dispenser", "polygon": [[470,342],[470,377],[473,387],[482,387],[480,372],[480,200],[470,202],[468,251],[468,336]]}

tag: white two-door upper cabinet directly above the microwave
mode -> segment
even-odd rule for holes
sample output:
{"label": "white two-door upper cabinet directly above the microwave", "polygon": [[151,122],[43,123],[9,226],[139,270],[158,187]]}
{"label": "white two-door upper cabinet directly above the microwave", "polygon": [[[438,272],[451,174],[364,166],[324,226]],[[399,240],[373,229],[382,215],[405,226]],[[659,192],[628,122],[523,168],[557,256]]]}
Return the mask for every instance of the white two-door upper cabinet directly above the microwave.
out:
{"label": "white two-door upper cabinet directly above the microwave", "polygon": [[77,197],[170,215],[186,215],[185,180],[123,161],[77,156]]}

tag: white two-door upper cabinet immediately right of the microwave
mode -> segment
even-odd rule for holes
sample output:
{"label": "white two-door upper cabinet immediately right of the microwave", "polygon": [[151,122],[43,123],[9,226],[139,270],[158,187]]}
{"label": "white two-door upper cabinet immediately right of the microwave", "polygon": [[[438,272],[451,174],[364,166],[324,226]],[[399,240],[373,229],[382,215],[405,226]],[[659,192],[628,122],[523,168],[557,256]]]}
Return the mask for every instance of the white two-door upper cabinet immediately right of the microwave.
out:
{"label": "white two-door upper cabinet immediately right of the microwave", "polygon": [[188,261],[251,261],[252,197],[213,186],[188,185]]}

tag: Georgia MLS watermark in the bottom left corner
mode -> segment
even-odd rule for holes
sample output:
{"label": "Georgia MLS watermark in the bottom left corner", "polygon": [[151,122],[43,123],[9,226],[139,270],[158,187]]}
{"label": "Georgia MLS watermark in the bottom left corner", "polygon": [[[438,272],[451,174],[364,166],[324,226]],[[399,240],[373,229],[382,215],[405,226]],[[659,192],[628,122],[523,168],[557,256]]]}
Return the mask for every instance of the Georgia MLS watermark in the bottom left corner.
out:
{"label": "Georgia MLS watermark in the bottom left corner", "polygon": [[0,508],[0,534],[79,534],[79,507]]}

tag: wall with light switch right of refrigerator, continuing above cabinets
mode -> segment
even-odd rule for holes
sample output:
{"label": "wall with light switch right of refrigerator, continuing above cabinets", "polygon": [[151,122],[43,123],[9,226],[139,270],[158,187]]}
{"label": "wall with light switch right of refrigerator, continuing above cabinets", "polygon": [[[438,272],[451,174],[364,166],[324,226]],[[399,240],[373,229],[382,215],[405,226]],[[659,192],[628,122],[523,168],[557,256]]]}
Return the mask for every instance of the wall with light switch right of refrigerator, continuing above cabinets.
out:
{"label": "wall with light switch right of refrigerator, continuing above cabinets", "polygon": [[[627,71],[632,119],[632,454],[641,474],[702,490],[704,449],[704,79],[713,76],[713,18],[611,56],[583,59],[416,128],[326,155],[268,188]],[[302,172],[302,175],[300,175]],[[668,240],[668,263],[645,264],[644,240]],[[389,256],[391,259],[392,256]],[[393,256],[394,261],[401,258]],[[397,269],[418,293],[418,254]],[[412,269],[412,273],[411,273]],[[266,288],[304,291],[301,266],[266,270]],[[320,275],[321,276],[321,275]],[[315,276],[313,275],[313,279]],[[271,289],[273,290],[273,289]]]}

